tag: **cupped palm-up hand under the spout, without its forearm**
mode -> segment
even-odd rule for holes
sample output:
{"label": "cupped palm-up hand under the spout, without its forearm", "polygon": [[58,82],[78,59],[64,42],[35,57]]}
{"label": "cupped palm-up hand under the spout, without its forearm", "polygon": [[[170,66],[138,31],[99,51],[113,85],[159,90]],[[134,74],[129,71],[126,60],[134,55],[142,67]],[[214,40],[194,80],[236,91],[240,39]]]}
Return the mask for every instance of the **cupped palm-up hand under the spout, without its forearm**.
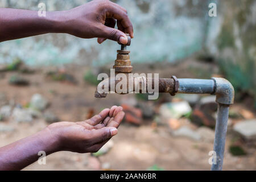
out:
{"label": "cupped palm-up hand under the spout, without its forearm", "polygon": [[96,152],[117,134],[124,115],[121,106],[113,106],[86,121],[52,123],[47,129],[59,141],[60,151]]}

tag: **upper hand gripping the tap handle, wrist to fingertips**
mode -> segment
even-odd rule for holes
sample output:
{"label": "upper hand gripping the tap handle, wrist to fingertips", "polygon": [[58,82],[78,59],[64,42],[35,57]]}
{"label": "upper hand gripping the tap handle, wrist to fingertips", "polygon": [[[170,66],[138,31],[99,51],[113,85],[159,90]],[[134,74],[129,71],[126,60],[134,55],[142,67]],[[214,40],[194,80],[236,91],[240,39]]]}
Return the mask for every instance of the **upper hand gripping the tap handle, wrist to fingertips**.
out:
{"label": "upper hand gripping the tap handle, wrist to fingertips", "polygon": [[[106,39],[126,44],[125,33],[133,38],[133,25],[126,9],[109,0],[93,0],[66,12],[68,33],[80,38]],[[115,29],[117,23],[118,30]]]}

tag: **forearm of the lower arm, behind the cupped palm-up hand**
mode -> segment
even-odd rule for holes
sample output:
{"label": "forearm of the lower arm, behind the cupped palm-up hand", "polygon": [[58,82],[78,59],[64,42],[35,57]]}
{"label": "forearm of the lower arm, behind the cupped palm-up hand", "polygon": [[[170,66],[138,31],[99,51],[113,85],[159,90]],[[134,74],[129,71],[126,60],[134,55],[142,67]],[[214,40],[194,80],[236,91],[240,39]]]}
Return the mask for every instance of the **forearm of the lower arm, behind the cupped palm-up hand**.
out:
{"label": "forearm of the lower arm, behind the cupped palm-up hand", "polygon": [[0,148],[0,170],[23,169],[38,160],[39,151],[59,151],[58,139],[48,129]]}

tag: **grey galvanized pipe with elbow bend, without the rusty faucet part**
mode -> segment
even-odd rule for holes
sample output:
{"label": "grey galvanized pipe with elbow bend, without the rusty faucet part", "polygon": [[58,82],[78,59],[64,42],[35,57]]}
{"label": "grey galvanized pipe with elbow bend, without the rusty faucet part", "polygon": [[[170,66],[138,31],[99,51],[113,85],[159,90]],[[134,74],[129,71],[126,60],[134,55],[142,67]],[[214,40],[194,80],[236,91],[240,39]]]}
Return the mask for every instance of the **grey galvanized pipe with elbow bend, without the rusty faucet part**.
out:
{"label": "grey galvanized pipe with elbow bend, without the rusty faucet part", "polygon": [[212,78],[211,80],[201,79],[178,79],[179,90],[177,93],[208,93],[216,95],[218,103],[217,120],[215,127],[214,147],[216,152],[215,164],[212,170],[221,170],[224,159],[226,130],[228,128],[229,105],[234,102],[234,88],[230,82],[224,78]]}

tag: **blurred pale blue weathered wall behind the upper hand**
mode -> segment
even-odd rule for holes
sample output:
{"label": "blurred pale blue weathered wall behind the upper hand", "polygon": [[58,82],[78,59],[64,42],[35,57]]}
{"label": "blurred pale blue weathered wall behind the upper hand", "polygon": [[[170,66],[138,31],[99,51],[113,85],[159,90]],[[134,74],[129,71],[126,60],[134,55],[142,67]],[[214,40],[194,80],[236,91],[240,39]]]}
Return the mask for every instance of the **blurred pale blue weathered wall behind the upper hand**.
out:
{"label": "blurred pale blue weathered wall behind the upper hand", "polygon": [[[44,2],[47,10],[67,10],[84,0],[1,0],[1,7],[38,10]],[[135,38],[129,47],[133,62],[175,61],[199,51],[207,30],[208,1],[205,0],[115,0],[129,12]],[[0,63],[20,57],[30,65],[76,62],[113,63],[117,43],[108,40],[49,34],[0,43]]]}

